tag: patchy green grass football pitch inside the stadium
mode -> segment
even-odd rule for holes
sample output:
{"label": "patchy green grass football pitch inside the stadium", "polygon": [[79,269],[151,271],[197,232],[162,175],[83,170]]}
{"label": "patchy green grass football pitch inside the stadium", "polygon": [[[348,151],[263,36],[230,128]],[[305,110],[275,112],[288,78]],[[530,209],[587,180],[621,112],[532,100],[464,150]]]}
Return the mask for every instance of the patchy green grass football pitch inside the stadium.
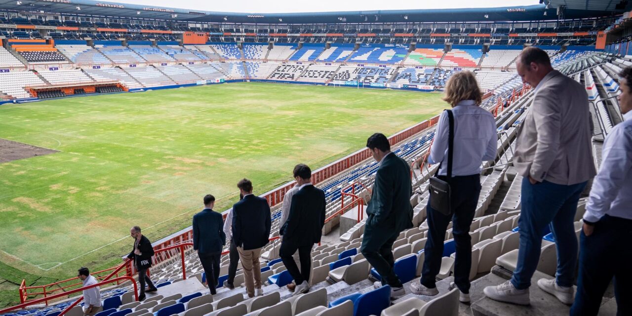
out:
{"label": "patchy green grass football pitch inside the stadium", "polygon": [[0,164],[0,291],[4,264],[52,278],[110,266],[129,248],[130,226],[162,238],[190,225],[204,194],[224,210],[239,179],[252,179],[255,194],[272,190],[298,162],[317,169],[375,131],[434,116],[440,98],[229,83],[0,106],[0,138],[59,150]]}

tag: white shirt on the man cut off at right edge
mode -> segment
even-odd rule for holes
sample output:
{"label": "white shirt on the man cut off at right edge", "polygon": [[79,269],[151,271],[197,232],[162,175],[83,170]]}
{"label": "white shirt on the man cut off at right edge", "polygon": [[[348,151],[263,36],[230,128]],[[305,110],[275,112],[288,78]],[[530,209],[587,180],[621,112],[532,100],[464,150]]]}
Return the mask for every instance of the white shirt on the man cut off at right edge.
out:
{"label": "white shirt on the man cut off at right edge", "polygon": [[632,111],[605,137],[601,167],[595,176],[584,219],[602,216],[632,219]]}

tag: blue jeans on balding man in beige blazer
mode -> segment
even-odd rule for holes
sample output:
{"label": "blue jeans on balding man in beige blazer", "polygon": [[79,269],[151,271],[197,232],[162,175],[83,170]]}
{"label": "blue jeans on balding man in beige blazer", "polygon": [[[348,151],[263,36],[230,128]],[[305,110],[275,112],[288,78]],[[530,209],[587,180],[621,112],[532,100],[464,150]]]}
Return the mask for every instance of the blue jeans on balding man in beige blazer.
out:
{"label": "blue jeans on balding man in beige blazer", "polygon": [[522,180],[520,212],[520,248],[518,264],[511,277],[516,289],[531,286],[531,277],[540,262],[540,248],[544,229],[549,226],[557,246],[556,281],[559,286],[573,286],[577,262],[577,236],[573,220],[577,201],[586,182],[576,185],[557,185],[549,181],[532,185],[529,178]]}

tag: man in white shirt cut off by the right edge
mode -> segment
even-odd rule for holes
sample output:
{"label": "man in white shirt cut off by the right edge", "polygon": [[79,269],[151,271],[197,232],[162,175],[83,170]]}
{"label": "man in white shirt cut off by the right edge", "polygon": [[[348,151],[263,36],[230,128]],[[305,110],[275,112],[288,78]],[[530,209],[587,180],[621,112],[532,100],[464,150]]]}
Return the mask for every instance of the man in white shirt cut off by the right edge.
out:
{"label": "man in white shirt cut off by the right edge", "polygon": [[614,277],[617,315],[632,315],[632,67],[621,71],[623,122],[604,140],[580,235],[580,273],[571,316],[597,315]]}

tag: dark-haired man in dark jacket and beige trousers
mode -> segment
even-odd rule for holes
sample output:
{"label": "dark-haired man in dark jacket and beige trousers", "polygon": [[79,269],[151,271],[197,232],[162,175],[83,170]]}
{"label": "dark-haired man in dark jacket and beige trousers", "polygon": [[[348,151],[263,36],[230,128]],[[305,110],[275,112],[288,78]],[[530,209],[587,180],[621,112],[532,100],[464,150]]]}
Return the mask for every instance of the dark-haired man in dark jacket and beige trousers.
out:
{"label": "dark-haired man in dark jacket and beige trousers", "polygon": [[[261,248],[269,242],[270,206],[267,200],[252,194],[252,182],[241,179],[237,184],[243,199],[233,205],[233,243],[243,268],[248,297],[264,295],[261,288]],[[256,288],[256,291],[255,291]]]}

